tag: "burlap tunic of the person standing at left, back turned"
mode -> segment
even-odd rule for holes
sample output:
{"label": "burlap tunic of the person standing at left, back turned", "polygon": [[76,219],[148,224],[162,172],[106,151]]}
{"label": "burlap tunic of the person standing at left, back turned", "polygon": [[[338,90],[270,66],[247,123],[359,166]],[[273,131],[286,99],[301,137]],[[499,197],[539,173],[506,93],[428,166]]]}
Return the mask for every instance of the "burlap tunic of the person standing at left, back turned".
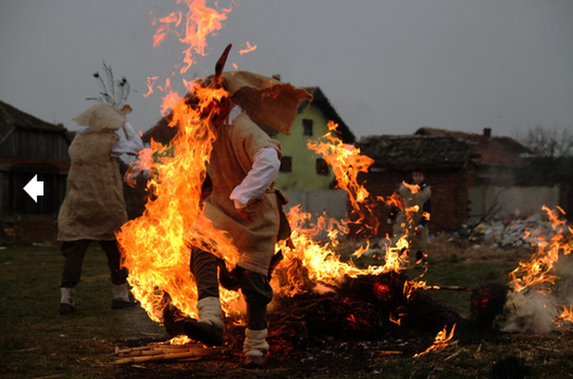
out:
{"label": "burlap tunic of the person standing at left, back turned", "polygon": [[119,163],[109,156],[119,140],[103,129],[78,133],[68,149],[72,164],[58,214],[58,240],[114,240],[127,222]]}

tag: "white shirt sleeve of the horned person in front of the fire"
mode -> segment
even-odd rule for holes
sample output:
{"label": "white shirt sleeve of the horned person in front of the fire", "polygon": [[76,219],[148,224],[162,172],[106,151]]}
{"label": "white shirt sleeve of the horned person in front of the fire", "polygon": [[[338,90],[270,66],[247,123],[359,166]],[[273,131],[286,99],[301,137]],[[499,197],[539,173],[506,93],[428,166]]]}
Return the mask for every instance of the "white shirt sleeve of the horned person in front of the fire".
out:
{"label": "white shirt sleeve of the horned person in front of the fire", "polygon": [[250,200],[262,195],[276,179],[280,166],[281,161],[274,148],[264,147],[257,151],[253,157],[253,167],[229,196],[235,208],[244,208]]}

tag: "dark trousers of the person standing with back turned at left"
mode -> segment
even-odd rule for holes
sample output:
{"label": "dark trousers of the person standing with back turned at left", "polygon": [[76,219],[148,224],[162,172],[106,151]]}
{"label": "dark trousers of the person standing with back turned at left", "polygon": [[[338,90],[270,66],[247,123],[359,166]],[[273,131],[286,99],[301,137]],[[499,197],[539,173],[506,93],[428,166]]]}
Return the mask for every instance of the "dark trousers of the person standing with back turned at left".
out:
{"label": "dark trousers of the person standing with back turned at left", "polygon": [[[85,252],[88,250],[91,239],[80,239],[76,241],[65,241],[62,244],[61,253],[65,256],[64,272],[62,273],[62,284],[60,287],[75,287],[80,282],[81,266],[84,264]],[[127,269],[120,267],[120,253],[117,248],[117,241],[97,241],[107,255],[111,281],[120,285],[127,279]]]}

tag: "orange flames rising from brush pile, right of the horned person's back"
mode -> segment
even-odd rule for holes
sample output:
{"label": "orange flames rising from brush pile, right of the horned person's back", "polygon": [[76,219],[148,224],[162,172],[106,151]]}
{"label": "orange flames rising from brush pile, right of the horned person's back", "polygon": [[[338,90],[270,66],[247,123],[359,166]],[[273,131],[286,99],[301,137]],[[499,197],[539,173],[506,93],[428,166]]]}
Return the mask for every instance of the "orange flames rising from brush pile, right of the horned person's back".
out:
{"label": "orange flames rising from brush pile, right of the horned person's back", "polygon": [[[335,131],[336,127],[335,123],[329,121],[330,131]],[[368,192],[363,185],[358,184],[356,177],[359,172],[367,172],[373,160],[360,155],[359,149],[343,144],[342,140],[329,133],[318,141],[309,141],[308,147],[321,153],[327,163],[332,166],[339,187],[347,192],[353,211],[360,214],[359,220],[363,220],[364,223],[372,220],[373,218],[364,217],[365,213],[360,206],[366,205],[367,207],[364,207],[366,212],[371,213],[371,208],[375,206],[375,203],[368,197]],[[352,261],[342,262],[335,251],[340,236],[348,232],[348,221],[329,219],[323,215],[317,218],[316,223],[312,223],[312,216],[301,212],[300,205],[292,207],[287,217],[291,224],[291,240],[295,247],[288,247],[285,243],[278,244],[276,247],[276,250],[280,250],[285,258],[277,267],[278,273],[283,274],[273,278],[271,283],[277,295],[292,296],[305,293],[312,290],[316,283],[337,286],[346,277],[356,278],[359,275],[378,275],[404,270],[403,263],[408,259],[406,236],[402,236],[394,244],[388,239],[388,244],[385,246],[384,264],[359,269]],[[374,225],[366,224],[365,226],[365,229],[371,231],[372,234],[378,228],[378,220],[376,219],[375,222]],[[326,242],[317,242],[320,238],[326,238]],[[368,250],[368,247],[368,243],[367,246],[359,247],[353,255],[360,256]],[[300,265],[293,265],[293,262],[300,262]],[[301,277],[300,266],[304,267],[310,283]],[[405,293],[406,291],[412,293],[418,287],[412,282],[405,288]]]}

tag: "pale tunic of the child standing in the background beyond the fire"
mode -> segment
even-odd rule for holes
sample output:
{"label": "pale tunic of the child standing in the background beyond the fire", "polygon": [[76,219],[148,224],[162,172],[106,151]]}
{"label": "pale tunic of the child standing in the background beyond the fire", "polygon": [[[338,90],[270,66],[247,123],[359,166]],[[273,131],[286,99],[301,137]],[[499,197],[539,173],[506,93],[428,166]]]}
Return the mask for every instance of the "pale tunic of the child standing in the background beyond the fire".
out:
{"label": "pale tunic of the child standing in the background beyond the fire", "polygon": [[[401,210],[396,217],[396,222],[393,227],[394,239],[397,240],[400,236],[408,233],[408,242],[410,243],[410,251],[424,251],[427,248],[428,242],[428,228],[425,226],[421,233],[416,233],[415,228],[418,226],[422,218],[424,203],[430,199],[431,191],[430,186],[420,189],[415,194],[412,194],[410,189],[403,183],[398,189],[398,194],[402,199],[402,206],[404,209],[418,206],[417,212],[410,212],[412,219],[408,221],[406,212]],[[404,226],[402,226],[404,224]]]}

